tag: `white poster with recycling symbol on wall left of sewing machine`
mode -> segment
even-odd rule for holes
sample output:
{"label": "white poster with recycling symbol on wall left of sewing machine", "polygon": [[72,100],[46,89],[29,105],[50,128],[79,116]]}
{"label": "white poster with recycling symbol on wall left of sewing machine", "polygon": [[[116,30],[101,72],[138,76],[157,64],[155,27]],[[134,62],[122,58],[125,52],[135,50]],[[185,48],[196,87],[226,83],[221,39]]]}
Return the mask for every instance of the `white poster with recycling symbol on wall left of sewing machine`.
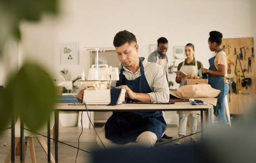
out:
{"label": "white poster with recycling symbol on wall left of sewing machine", "polygon": [[61,65],[78,64],[78,42],[60,43]]}

